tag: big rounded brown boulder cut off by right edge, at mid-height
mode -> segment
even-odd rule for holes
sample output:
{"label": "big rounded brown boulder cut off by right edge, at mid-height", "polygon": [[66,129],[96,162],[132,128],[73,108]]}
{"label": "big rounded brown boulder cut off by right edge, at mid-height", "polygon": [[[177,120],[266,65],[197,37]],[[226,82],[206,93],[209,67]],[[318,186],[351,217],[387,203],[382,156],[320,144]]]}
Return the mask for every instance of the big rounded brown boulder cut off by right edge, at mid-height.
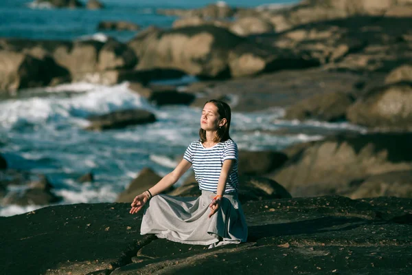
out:
{"label": "big rounded brown boulder cut off by right edge, at mid-height", "polygon": [[412,83],[371,89],[347,110],[350,122],[380,129],[412,129]]}

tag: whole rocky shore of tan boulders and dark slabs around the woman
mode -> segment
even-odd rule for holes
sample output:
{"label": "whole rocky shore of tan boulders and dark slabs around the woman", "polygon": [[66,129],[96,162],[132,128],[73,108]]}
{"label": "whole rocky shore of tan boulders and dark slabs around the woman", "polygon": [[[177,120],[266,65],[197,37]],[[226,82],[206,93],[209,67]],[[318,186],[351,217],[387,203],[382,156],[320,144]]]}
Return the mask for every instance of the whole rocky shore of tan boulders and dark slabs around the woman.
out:
{"label": "whole rocky shore of tan boulders and dark slabs around the woman", "polygon": [[[84,8],[74,0],[47,2]],[[104,6],[89,1],[87,8]],[[233,111],[280,107],[286,120],[350,122],[365,131],[331,130],[321,133],[323,140],[277,152],[240,151],[247,243],[207,250],[139,235],[141,214],[128,214],[128,202],[159,179],[147,168],[115,203],[0,217],[1,273],[409,274],[412,1],[306,0],[277,9],[216,4],[157,13],[179,18],[170,29],[113,21],[96,26],[135,30],[126,42],[1,38],[0,95],[78,81],[128,81],[129,89],[158,106],[199,107],[220,98]],[[200,81],[152,85],[185,75]],[[128,109],[89,120],[85,130],[104,132],[157,118]],[[93,181],[93,175],[73,181]],[[27,188],[17,193],[12,185]],[[196,196],[198,188],[191,176],[166,193]],[[2,205],[60,200],[47,175],[8,168],[0,147]]]}

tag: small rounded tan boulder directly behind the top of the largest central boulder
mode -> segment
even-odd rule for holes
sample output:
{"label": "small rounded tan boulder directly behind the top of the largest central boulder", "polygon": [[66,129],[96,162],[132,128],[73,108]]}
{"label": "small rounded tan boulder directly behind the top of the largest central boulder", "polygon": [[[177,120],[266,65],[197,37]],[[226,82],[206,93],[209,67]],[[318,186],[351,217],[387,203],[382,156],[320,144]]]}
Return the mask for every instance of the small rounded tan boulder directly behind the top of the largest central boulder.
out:
{"label": "small rounded tan boulder directly behind the top of the largest central boulder", "polygon": [[273,32],[271,22],[259,17],[242,17],[231,23],[229,30],[239,36]]}

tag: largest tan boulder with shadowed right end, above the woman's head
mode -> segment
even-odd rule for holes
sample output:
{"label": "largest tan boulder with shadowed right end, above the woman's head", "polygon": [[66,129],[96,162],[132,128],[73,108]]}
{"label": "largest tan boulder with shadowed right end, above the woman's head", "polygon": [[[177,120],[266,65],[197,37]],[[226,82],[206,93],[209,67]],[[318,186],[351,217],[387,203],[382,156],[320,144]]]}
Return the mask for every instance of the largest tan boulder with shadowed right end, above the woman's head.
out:
{"label": "largest tan boulder with shadowed right end, above the woman's head", "polygon": [[174,68],[207,78],[251,76],[319,65],[292,50],[263,46],[213,25],[148,30],[128,43],[139,69]]}

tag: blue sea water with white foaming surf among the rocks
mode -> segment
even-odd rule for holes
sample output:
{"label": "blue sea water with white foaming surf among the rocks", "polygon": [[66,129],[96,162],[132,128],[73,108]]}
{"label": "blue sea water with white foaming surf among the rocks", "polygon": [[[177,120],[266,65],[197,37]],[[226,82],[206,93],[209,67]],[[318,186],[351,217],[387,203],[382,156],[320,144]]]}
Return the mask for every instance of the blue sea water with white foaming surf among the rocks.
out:
{"label": "blue sea water with white foaming surf among the rocks", "polygon": [[[91,36],[102,20],[125,20],[143,28],[170,28],[174,17],[155,14],[156,8],[196,8],[213,1],[106,0],[104,10],[34,9],[24,0],[0,1],[0,36],[27,39],[76,39]],[[295,1],[278,1],[293,3]],[[227,1],[250,6],[271,1]],[[135,32],[108,32],[127,40]],[[191,80],[184,78],[182,81]],[[40,96],[46,93],[48,96]],[[65,93],[62,93],[65,91]],[[67,94],[67,91],[70,93]],[[127,83],[112,87],[72,83],[35,89],[32,96],[0,100],[0,153],[10,168],[46,175],[61,203],[115,201],[144,167],[159,175],[169,173],[187,145],[198,138],[201,109],[185,106],[156,107],[128,89]],[[30,94],[30,93],[29,93]],[[233,102],[236,102],[234,98]],[[153,124],[104,132],[84,131],[87,116],[119,109],[139,108],[157,116]],[[304,124],[282,120],[282,109],[257,113],[233,113],[231,136],[240,149],[279,150],[295,142],[321,136],[273,135],[261,130],[298,128]],[[307,122],[315,128],[358,129],[349,124]],[[361,129],[359,129],[361,130]],[[93,183],[76,179],[92,172]],[[187,175],[186,175],[187,176]],[[184,177],[181,181],[184,180]],[[178,182],[178,184],[181,183]],[[155,184],[155,183],[153,183]],[[18,190],[19,186],[9,186]],[[10,216],[43,206],[0,206],[0,216]]]}

